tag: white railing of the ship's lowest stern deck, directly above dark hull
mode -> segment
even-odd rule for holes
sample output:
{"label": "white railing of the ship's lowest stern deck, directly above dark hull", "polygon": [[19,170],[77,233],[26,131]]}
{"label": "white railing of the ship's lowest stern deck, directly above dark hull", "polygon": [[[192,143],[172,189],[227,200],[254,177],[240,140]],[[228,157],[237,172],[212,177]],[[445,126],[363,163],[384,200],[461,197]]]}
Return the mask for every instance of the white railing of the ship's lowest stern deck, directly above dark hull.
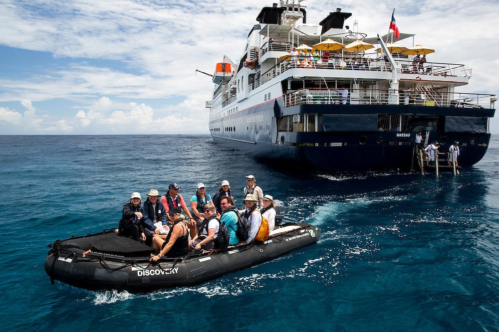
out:
{"label": "white railing of the ship's lowest stern deck, directly above dark hull", "polygon": [[[283,95],[286,107],[304,104],[387,105],[389,91],[380,89],[300,89]],[[493,109],[495,95],[478,93],[448,93],[433,90],[399,92],[400,105],[466,107]]]}

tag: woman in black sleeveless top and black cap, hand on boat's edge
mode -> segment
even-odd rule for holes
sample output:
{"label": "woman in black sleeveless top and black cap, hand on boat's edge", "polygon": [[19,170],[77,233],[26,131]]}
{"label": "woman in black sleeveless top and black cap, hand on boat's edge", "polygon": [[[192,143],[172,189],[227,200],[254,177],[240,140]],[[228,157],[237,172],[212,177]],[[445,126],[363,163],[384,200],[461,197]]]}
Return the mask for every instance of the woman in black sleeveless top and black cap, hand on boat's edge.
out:
{"label": "woman in black sleeveless top and black cap, hand on boat's edge", "polygon": [[184,219],[180,207],[174,207],[168,213],[173,219],[173,226],[170,228],[166,240],[160,236],[154,236],[153,248],[157,255],[151,257],[152,262],[156,262],[163,256],[180,257],[189,253],[189,229],[186,225],[190,223]]}

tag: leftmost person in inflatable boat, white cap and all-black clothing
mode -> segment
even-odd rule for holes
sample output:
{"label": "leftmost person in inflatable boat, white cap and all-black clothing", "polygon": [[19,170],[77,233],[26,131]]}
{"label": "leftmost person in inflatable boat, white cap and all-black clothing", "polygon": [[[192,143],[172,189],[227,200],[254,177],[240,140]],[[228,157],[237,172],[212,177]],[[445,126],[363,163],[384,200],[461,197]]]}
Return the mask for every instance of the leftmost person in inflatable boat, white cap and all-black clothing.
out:
{"label": "leftmost person in inflatable boat, white cap and all-black clothing", "polygon": [[123,205],[123,213],[118,225],[118,235],[127,236],[135,241],[145,241],[140,193],[132,192],[130,202]]}

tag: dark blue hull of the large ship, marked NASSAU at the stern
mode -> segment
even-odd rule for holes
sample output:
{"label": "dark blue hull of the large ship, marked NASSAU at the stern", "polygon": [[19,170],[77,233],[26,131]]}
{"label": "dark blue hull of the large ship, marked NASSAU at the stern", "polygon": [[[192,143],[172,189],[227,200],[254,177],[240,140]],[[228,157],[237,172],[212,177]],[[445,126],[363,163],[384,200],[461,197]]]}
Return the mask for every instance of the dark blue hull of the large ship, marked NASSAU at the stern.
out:
{"label": "dark blue hull of the large ship, marked NASSAU at the stern", "polygon": [[[480,112],[478,116],[476,109],[408,105],[283,107],[282,100],[272,100],[212,121],[210,131],[215,142],[256,158],[288,160],[292,165],[328,171],[414,169],[415,137],[423,131],[427,133],[427,142],[441,144],[440,152],[447,152],[454,141],[460,142],[459,164],[467,167],[478,163],[489,146],[487,127],[495,110]],[[315,126],[312,130],[299,126],[282,130],[282,119],[305,114],[318,118],[317,123],[310,125]],[[413,120],[402,131],[379,131],[379,119],[383,116],[419,117],[434,122],[429,130]],[[467,128],[468,123],[473,125]]]}

